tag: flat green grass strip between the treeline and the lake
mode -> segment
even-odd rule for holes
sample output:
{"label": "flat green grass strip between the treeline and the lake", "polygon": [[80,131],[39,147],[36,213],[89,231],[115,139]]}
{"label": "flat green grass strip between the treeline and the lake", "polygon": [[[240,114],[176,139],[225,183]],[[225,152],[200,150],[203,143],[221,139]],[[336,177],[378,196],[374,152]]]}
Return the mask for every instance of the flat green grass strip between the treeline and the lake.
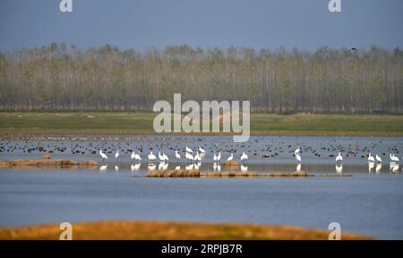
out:
{"label": "flat green grass strip between the treeline and the lake", "polygon": [[[2,133],[154,133],[152,112],[0,112]],[[254,135],[403,136],[403,115],[264,114]]]}

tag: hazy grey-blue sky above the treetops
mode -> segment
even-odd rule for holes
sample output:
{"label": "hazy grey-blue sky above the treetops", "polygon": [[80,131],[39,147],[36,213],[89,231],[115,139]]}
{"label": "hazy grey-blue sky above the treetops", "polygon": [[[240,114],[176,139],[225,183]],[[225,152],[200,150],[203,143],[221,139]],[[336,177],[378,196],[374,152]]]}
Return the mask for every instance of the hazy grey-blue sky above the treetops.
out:
{"label": "hazy grey-blue sky above the treetops", "polygon": [[1,0],[0,50],[51,42],[78,47],[112,44],[147,49],[169,45],[403,46],[403,0]]}

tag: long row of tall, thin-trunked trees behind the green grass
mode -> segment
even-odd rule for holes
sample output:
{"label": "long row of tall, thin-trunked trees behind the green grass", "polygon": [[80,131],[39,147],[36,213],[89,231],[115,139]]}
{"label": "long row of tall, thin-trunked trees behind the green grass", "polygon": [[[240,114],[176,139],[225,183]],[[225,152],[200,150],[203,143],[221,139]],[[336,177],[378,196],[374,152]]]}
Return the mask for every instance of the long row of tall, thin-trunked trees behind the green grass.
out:
{"label": "long row of tall, thin-trunked trees behind the green grass", "polygon": [[255,112],[402,112],[403,52],[51,44],[0,53],[4,110],[150,110],[174,93],[250,100]]}

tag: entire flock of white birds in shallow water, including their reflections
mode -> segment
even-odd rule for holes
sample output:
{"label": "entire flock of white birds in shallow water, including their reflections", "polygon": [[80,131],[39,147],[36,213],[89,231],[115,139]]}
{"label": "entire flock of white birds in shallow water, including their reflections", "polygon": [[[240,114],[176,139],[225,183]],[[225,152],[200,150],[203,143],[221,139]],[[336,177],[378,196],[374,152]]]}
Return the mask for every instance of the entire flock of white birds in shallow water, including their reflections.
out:
{"label": "entire flock of white birds in shallow water, including their reflections", "polygon": [[[206,154],[205,150],[199,146],[195,151],[193,149],[189,148],[186,146],[184,148],[184,158],[186,161],[189,163],[188,166],[186,166],[186,170],[189,169],[199,169],[201,166],[201,160],[204,158],[204,155]],[[107,160],[107,154],[103,153],[102,150],[99,150],[99,155],[102,158],[102,162],[105,162]],[[115,153],[115,160],[116,162],[119,159],[119,151],[116,151]],[[294,156],[296,157],[296,171],[299,171],[301,169],[301,162],[302,162],[302,157],[301,157],[301,148],[298,146],[296,150],[294,151]],[[140,168],[140,162],[141,162],[141,155],[140,151],[138,153],[132,152],[130,155],[133,164],[132,164],[132,170],[136,170]],[[399,170],[399,157],[395,156],[395,154],[390,154],[390,171],[398,171]],[[176,161],[179,161],[182,158],[181,154],[179,154],[178,150],[175,151],[175,159]],[[157,166],[155,166],[155,162],[159,162],[159,170],[166,170],[167,169],[167,162],[169,161],[169,157],[167,154],[163,152],[159,152],[157,155],[153,154],[152,151],[147,155],[147,159],[150,162],[149,169],[153,170],[156,169]],[[234,160],[234,154],[231,153],[227,157],[227,161],[232,161]],[[240,156],[240,161],[242,163],[241,170],[247,170],[247,167],[244,167],[244,163],[247,162],[248,160],[248,155],[243,153]],[[403,160],[403,157],[402,157]],[[221,161],[221,152],[215,153],[213,155],[213,168],[214,171],[218,170],[220,171],[220,166],[219,162]],[[382,158],[376,154],[373,156],[372,154],[367,155],[367,161],[368,161],[368,168],[369,171],[371,171],[376,164],[376,171],[380,171],[382,167]],[[343,162],[343,156],[339,152],[339,154],[335,158],[336,162],[336,171],[341,171],[342,170],[342,162]],[[176,167],[176,169],[180,169],[180,167]]]}

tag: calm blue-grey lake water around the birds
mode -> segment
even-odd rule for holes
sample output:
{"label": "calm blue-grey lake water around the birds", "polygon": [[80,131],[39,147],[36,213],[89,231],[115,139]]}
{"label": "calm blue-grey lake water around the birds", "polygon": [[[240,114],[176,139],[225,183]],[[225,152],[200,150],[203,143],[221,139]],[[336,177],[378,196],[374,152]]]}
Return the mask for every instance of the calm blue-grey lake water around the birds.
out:
{"label": "calm blue-grey lake water around the birds", "polygon": [[[201,171],[214,171],[213,153],[221,150],[239,159],[248,171],[296,171],[313,175],[348,173],[345,178],[295,179],[147,179],[146,154],[168,154],[168,168],[184,168],[174,159],[184,146],[202,146],[206,155]],[[296,146],[302,165],[296,168]],[[61,148],[62,147],[62,148]],[[379,238],[403,238],[402,166],[390,165],[389,154],[403,154],[403,137],[251,137],[235,144],[232,137],[83,137],[31,138],[0,141],[0,159],[54,158],[109,159],[107,168],[0,169],[0,226],[16,227],[62,221],[159,220],[287,224],[327,229],[339,222],[342,230]],[[141,149],[143,162],[131,166],[130,149]],[[30,152],[28,151],[30,149]],[[62,151],[62,150],[63,151]],[[112,159],[120,149],[118,161]],[[342,169],[335,166],[339,150]],[[382,166],[368,166],[364,155],[382,157]],[[347,157],[348,154],[348,157]],[[157,164],[158,167],[159,164]],[[217,167],[216,167],[217,170]],[[221,171],[224,171],[221,168]]]}

